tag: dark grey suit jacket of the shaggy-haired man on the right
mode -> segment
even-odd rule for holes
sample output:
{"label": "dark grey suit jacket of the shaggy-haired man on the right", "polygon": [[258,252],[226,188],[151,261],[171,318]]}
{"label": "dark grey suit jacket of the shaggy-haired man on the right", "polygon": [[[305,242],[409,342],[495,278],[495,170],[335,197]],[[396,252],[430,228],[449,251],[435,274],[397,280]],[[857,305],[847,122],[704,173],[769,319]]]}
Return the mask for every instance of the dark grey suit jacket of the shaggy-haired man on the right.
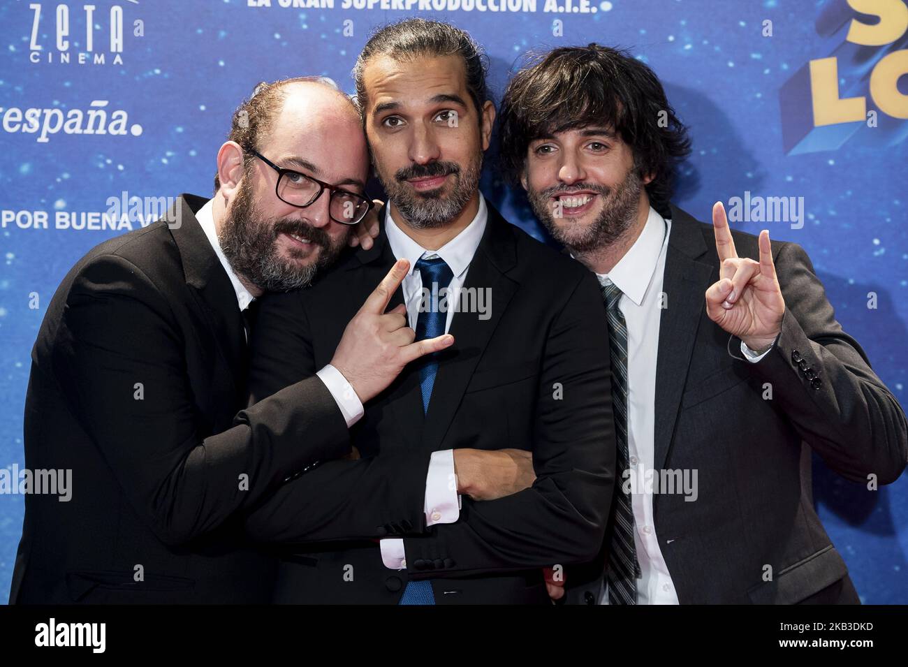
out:
{"label": "dark grey suit jacket of the shaggy-haired man on the right", "polygon": [[[811,451],[848,479],[893,482],[908,458],[902,408],[835,320],[795,243],[772,244],[782,332],[765,358],[745,360],[740,339],[706,315],[706,289],[719,280],[712,225],[675,206],[671,219],[655,468],[696,469],[698,497],[654,495],[654,515],[678,601],[856,603],[814,511]],[[732,235],[739,256],[758,259],[757,237]],[[601,560],[568,572],[571,599],[595,602],[601,573]]]}

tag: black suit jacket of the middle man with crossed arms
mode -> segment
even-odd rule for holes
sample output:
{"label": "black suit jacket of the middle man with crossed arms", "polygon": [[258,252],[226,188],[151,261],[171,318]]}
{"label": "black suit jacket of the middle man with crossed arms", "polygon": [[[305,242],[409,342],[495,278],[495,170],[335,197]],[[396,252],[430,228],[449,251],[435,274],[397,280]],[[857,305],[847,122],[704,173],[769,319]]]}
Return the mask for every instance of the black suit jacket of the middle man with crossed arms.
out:
{"label": "black suit jacket of the middle man with crossed arms", "polygon": [[[394,260],[382,231],[311,289],[265,299],[252,400],[328,364]],[[540,566],[597,553],[615,458],[597,281],[489,207],[464,287],[490,290],[490,318],[455,315],[428,414],[411,364],[353,427],[360,461],[322,464],[251,516],[253,535],[296,543],[277,601],[397,603],[409,579],[432,579],[437,603],[548,603]],[[400,289],[390,307],[399,303]],[[464,496],[457,523],[427,530],[429,456],[457,447],[531,450],[537,481],[496,501]],[[362,539],[383,536],[404,537],[406,570],[385,567],[378,541]]]}

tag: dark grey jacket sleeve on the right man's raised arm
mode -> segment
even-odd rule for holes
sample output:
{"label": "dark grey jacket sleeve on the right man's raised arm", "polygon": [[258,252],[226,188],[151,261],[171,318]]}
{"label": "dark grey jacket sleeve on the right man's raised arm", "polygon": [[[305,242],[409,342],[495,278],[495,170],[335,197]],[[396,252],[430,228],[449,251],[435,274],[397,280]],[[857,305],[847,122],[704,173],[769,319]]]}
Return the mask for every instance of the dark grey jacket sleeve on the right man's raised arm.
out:
{"label": "dark grey jacket sleeve on the right man's raised arm", "polygon": [[835,320],[807,253],[783,244],[775,270],[785,298],[782,331],[753,371],[771,384],[776,405],[828,466],[854,481],[873,475],[892,483],[908,460],[902,407]]}

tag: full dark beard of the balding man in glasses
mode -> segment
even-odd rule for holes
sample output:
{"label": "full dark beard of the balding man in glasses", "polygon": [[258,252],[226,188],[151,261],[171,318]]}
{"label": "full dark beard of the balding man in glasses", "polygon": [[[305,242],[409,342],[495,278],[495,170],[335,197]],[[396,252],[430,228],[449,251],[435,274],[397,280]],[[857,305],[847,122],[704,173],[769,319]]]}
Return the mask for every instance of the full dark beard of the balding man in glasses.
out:
{"label": "full dark beard of the balding man in glasses", "polygon": [[[277,250],[277,225],[252,212],[252,192],[243,180],[227,214],[218,241],[233,272],[264,291],[285,292],[306,287],[319,269],[331,266],[343,250],[342,244],[320,243],[318,260],[303,265],[282,260]],[[317,233],[317,232],[316,232]],[[327,234],[325,235],[327,236]]]}

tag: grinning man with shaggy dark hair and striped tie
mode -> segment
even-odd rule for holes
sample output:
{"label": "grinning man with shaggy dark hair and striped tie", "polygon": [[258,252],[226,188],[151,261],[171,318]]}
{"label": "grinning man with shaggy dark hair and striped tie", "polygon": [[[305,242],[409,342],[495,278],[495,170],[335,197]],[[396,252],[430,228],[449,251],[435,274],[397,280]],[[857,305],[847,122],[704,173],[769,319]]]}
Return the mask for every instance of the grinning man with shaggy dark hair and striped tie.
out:
{"label": "grinning man with shaggy dark hair and striped tie", "polygon": [[[731,231],[719,203],[708,225],[670,201],[686,128],[627,53],[543,54],[508,83],[501,116],[508,175],[596,275],[608,313],[621,482],[605,564],[569,573],[572,593],[858,602],[814,509],[811,450],[848,479],[886,484],[908,431],[804,250]],[[668,478],[696,487],[639,482]]]}

